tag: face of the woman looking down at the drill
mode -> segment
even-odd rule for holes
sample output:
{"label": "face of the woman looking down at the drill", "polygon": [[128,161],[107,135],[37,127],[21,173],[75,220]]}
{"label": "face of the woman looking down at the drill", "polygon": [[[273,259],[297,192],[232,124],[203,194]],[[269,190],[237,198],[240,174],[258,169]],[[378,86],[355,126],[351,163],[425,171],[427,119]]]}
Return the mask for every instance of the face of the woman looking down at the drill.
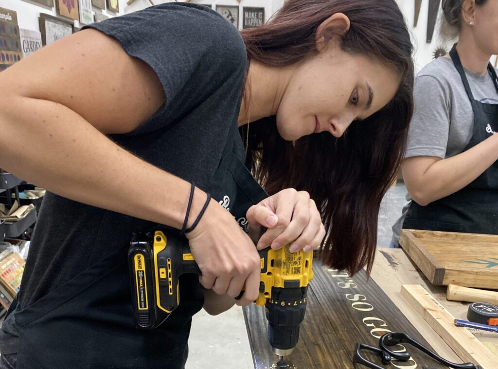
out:
{"label": "face of the woman looking down at the drill", "polygon": [[323,131],[341,137],[353,120],[385,106],[398,86],[394,70],[340,47],[328,48],[294,70],[278,106],[278,132],[288,141]]}

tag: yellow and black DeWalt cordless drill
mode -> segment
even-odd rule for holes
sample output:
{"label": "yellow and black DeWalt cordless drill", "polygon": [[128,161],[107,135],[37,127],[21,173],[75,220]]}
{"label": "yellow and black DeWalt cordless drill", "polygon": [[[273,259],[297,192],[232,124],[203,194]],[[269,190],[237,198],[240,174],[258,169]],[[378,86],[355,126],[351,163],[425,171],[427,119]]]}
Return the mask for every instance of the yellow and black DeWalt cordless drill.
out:
{"label": "yellow and black DeWalt cordless drill", "polygon": [[[282,359],[299,339],[306,311],[308,283],[313,278],[313,251],[291,253],[289,245],[259,252],[261,275],[255,303],[265,306],[268,341]],[[180,303],[178,277],[200,274],[188,240],[179,234],[135,235],[128,251],[135,326],[159,326]],[[242,295],[242,293],[241,293]]]}

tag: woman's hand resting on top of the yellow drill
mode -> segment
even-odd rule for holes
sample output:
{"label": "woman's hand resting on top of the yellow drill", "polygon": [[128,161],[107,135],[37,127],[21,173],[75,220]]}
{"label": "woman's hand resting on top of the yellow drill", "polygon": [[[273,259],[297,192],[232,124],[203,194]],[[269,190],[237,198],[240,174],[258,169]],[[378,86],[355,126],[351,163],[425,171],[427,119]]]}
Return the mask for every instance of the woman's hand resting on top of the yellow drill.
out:
{"label": "woman's hand resting on top of the yellow drill", "polygon": [[283,189],[251,206],[246,216],[253,240],[261,227],[267,228],[257,240],[258,250],[270,245],[277,250],[292,242],[291,252],[307,252],[320,246],[325,237],[320,212],[306,191]]}

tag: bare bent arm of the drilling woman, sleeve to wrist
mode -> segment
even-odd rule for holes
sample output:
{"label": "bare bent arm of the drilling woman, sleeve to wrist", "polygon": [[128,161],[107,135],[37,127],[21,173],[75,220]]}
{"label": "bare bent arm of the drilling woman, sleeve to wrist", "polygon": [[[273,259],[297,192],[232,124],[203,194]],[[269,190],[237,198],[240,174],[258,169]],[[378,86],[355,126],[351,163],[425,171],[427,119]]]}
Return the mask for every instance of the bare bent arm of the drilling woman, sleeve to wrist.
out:
{"label": "bare bent arm of the drilling woman, sleeve to wrist", "polygon": [[[2,72],[0,84],[9,87],[0,99],[1,168],[73,200],[181,228],[189,184],[103,134],[134,130],[164,103],[145,63],[84,30]],[[194,214],[204,199],[196,191]]]}

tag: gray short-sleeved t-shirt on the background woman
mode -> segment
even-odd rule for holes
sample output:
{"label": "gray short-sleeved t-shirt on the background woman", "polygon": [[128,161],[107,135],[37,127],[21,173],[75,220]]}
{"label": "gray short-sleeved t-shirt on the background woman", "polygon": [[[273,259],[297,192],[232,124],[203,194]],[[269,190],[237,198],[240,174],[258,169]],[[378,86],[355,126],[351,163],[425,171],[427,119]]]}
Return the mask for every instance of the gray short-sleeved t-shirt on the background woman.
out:
{"label": "gray short-sleeved t-shirt on the background woman", "polygon": [[[482,76],[465,70],[474,98],[498,104],[498,94],[490,74]],[[413,96],[415,107],[408,132],[405,158],[437,156],[450,158],[462,153],[472,137],[474,113],[462,79],[448,57],[427,64],[416,76]],[[398,244],[399,232],[411,203],[392,226],[392,243]]]}

